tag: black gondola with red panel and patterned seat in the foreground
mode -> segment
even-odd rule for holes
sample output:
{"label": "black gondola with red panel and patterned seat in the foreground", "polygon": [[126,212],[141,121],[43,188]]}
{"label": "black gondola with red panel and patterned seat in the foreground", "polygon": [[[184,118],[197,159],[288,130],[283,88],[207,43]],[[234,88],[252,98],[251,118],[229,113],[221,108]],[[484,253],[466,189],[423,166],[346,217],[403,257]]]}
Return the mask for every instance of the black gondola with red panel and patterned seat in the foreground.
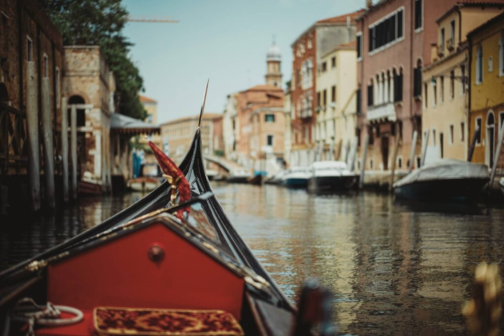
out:
{"label": "black gondola with red panel and patterned seat in the foreground", "polygon": [[[20,331],[25,322],[18,319],[34,302],[44,305],[38,322],[50,322],[50,302],[59,318],[81,319],[35,326],[34,334],[308,333],[321,305],[302,296],[296,317],[231,225],[210,193],[199,128],[179,167],[189,203],[166,209],[174,195],[164,182],[101,224],[0,273],[0,331],[25,334],[30,326]],[[176,211],[187,204],[190,217],[181,221]]]}

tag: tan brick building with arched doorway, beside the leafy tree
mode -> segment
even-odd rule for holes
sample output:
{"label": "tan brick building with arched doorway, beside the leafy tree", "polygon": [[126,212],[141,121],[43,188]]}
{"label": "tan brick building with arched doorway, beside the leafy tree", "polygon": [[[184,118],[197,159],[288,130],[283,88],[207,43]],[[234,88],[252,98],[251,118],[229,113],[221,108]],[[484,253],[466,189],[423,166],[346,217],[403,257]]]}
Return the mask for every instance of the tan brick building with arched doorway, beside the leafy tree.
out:
{"label": "tan brick building with arched doorway, beside the leafy tree", "polygon": [[[90,172],[111,191],[110,116],[115,80],[99,46],[65,46],[63,92],[77,111],[78,174]],[[71,118],[69,118],[70,120]]]}

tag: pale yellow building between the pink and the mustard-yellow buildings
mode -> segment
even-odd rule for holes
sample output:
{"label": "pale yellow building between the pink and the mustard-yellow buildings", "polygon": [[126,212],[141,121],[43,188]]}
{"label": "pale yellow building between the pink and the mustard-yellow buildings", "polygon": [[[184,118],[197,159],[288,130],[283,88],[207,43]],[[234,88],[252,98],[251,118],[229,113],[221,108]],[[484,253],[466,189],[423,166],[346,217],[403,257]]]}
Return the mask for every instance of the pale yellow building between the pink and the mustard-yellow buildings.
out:
{"label": "pale yellow building between the pink and the mustard-yellow buildings", "polygon": [[422,75],[424,139],[429,132],[426,162],[439,158],[467,159],[469,49],[466,35],[498,15],[500,7],[483,2],[480,6],[457,4],[436,20],[437,43],[432,44],[431,60]]}

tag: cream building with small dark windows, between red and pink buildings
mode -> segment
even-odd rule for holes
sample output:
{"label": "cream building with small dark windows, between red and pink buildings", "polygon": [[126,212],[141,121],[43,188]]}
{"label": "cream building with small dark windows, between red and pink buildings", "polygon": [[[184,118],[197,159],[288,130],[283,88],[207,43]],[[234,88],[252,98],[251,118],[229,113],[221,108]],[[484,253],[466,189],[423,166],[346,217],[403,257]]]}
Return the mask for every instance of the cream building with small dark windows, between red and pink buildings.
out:
{"label": "cream building with small dark windows, between red and pink buildings", "polygon": [[322,55],[317,71],[318,160],[345,160],[355,140],[357,51],[355,41]]}

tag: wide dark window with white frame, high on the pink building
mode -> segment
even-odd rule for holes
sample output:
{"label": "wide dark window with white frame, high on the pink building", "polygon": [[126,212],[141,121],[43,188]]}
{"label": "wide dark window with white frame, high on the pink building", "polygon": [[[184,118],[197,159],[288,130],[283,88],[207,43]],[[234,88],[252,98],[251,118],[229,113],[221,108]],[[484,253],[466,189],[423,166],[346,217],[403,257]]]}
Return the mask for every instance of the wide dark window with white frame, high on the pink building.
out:
{"label": "wide dark window with white frame, high on the pink building", "polygon": [[403,9],[392,13],[368,28],[369,52],[403,37]]}

